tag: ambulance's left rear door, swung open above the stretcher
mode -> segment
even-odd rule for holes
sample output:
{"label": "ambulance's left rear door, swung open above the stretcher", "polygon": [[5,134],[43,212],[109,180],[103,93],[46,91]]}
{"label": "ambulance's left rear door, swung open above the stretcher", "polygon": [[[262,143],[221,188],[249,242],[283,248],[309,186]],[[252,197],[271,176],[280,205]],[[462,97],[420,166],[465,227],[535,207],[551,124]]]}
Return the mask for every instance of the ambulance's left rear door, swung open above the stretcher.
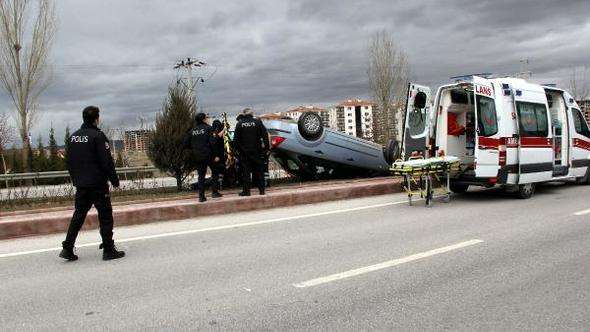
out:
{"label": "ambulance's left rear door, swung open above the stretcher", "polygon": [[412,155],[426,155],[430,127],[430,96],[427,86],[410,83],[404,115],[402,158]]}

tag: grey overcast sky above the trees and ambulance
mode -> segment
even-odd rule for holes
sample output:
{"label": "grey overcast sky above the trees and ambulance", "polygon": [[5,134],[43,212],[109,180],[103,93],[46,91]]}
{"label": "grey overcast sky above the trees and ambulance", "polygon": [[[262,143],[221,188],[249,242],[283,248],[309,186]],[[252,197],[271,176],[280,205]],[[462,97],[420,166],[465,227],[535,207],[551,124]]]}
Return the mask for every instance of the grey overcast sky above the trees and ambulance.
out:
{"label": "grey overcast sky above the trees and ambulance", "polygon": [[[369,97],[367,44],[391,32],[413,78],[433,87],[450,76],[513,74],[528,58],[540,83],[566,87],[590,65],[590,1],[149,1],[57,0],[55,80],[41,99],[46,136],[80,125],[84,106],[110,126],[154,118],[180,58],[209,66],[196,76],[209,113],[258,113]],[[0,94],[0,111],[11,109]]]}

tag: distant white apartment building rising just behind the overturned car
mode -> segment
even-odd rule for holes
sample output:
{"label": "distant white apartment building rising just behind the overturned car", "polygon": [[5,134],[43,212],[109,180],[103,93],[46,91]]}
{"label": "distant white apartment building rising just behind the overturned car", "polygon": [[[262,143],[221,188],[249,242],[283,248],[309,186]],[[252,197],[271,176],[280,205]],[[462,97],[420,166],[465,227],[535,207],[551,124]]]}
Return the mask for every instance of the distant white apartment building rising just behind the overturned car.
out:
{"label": "distant white apartment building rising just behind the overturned car", "polygon": [[351,136],[373,140],[375,104],[362,99],[348,99],[330,109],[330,127]]}

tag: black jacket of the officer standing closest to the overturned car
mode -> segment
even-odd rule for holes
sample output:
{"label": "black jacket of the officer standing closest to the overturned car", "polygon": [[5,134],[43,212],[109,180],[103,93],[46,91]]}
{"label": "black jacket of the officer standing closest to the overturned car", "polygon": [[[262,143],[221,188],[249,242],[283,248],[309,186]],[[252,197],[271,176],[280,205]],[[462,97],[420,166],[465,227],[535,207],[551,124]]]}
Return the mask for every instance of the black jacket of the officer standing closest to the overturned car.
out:
{"label": "black jacket of the officer standing closest to the overturned car", "polygon": [[261,155],[270,148],[268,132],[260,119],[245,115],[236,125],[234,141],[240,153]]}

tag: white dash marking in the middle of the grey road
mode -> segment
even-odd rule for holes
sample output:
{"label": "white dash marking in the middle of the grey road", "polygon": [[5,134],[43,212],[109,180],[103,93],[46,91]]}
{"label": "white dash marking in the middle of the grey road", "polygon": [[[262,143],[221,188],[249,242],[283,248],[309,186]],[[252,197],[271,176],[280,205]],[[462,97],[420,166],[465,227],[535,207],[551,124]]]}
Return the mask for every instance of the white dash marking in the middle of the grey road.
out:
{"label": "white dash marking in the middle of the grey road", "polygon": [[306,288],[306,287],[317,286],[317,285],[325,284],[328,282],[346,279],[346,278],[350,278],[350,277],[355,277],[355,276],[358,276],[361,274],[386,269],[386,268],[397,266],[397,265],[404,264],[404,263],[409,263],[409,262],[419,260],[422,258],[426,258],[426,257],[438,255],[438,254],[443,254],[445,252],[465,248],[465,247],[479,244],[482,242],[483,241],[479,240],[479,239],[469,240],[469,241],[453,244],[450,246],[446,246],[446,247],[442,247],[442,248],[438,248],[438,249],[433,249],[433,250],[421,252],[418,254],[414,254],[414,255],[398,258],[398,259],[393,259],[393,260],[379,263],[379,264],[375,264],[375,265],[365,266],[365,267],[361,267],[358,269],[349,270],[346,272],[336,273],[336,274],[332,274],[332,275],[329,275],[326,277],[311,279],[308,281],[293,284],[293,286],[295,286],[297,288]]}

